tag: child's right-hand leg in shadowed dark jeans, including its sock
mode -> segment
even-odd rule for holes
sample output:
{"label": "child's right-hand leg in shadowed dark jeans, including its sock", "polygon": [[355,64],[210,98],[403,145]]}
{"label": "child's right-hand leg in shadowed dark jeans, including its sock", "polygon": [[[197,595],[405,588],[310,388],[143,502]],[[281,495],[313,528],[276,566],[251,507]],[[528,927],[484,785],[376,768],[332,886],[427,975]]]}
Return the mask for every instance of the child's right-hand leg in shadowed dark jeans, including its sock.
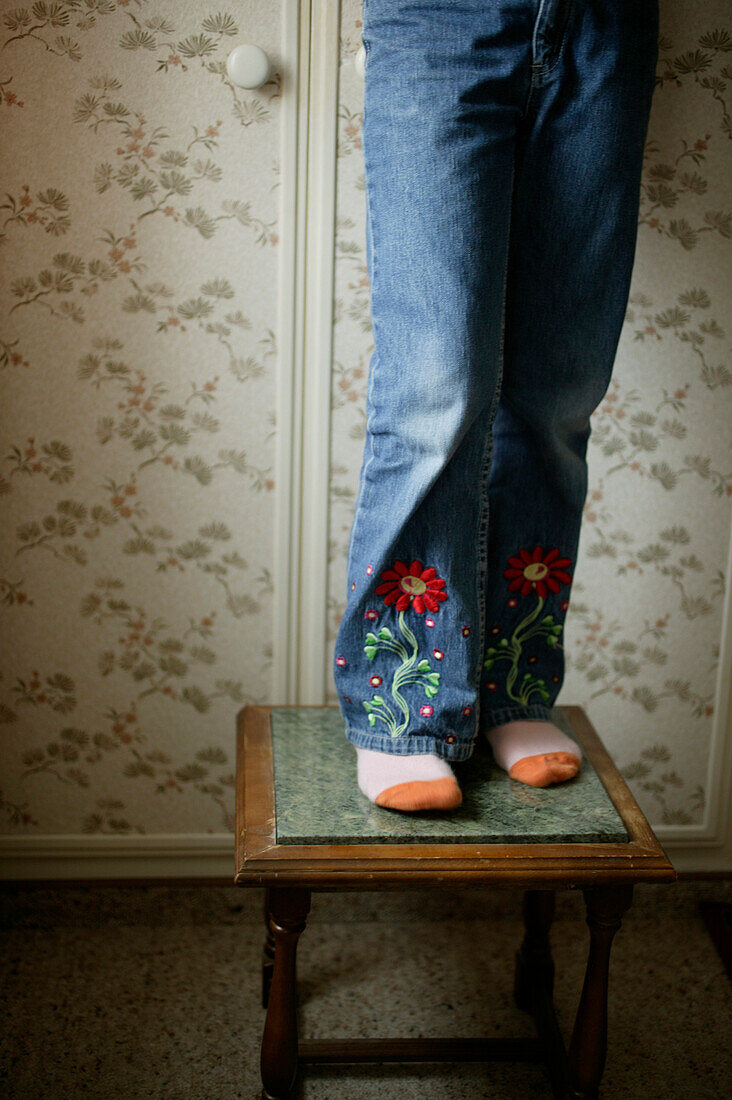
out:
{"label": "child's right-hand leg in shadowed dark jeans, including its sock", "polygon": [[499,763],[534,785],[570,778],[581,756],[550,707],[590,415],[610,383],[633,267],[657,18],[653,2],[593,0],[575,4],[558,56],[539,33],[545,67],[518,131],[481,726]]}

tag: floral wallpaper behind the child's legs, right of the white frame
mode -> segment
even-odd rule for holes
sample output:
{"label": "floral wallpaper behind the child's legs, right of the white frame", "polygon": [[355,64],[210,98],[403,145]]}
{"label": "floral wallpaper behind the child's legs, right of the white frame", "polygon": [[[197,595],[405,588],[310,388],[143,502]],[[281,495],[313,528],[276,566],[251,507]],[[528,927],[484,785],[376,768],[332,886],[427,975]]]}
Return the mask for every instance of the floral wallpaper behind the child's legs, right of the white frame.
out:
{"label": "floral wallpaper behind the child's legs, right of the white frame", "polygon": [[[583,706],[654,824],[701,822],[724,596],[732,403],[729,336],[732,29],[721,0],[660,4],[626,323],[592,418],[590,488],[557,703]],[[354,67],[361,4],[341,4],[332,364],[330,651],[373,350]],[[330,664],[332,668],[332,662]],[[336,701],[331,684],[330,701]]]}

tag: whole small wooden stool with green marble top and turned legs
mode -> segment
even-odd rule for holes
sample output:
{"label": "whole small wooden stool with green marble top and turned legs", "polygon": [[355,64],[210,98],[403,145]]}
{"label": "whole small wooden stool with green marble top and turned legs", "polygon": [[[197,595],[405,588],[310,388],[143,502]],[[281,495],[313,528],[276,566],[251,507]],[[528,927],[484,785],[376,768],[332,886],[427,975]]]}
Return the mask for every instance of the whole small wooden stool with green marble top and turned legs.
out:
{"label": "whole small wooden stool with green marble top and turned legs", "polygon": [[[406,814],[358,790],[338,707],[248,706],[238,716],[236,873],[265,886],[262,999],[264,1100],[285,1100],[298,1065],[363,1062],[544,1062],[554,1097],[590,1098],[605,1060],[610,947],[634,882],[676,872],[600,738],[578,706],[551,721],[584,751],[569,783],[509,779],[484,740],[454,766],[463,792],[450,813]],[[536,1038],[297,1038],[295,952],[312,890],[454,883],[522,886],[525,936],[515,999]],[[569,1053],[554,1010],[549,947],[556,890],[581,887],[590,949]]]}

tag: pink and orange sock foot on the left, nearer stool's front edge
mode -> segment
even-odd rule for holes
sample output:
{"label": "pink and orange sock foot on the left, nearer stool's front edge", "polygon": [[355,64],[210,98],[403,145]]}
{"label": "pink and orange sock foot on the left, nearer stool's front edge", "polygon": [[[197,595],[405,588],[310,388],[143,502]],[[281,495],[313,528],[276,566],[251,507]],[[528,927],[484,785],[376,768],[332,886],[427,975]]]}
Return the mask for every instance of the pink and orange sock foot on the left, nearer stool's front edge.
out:
{"label": "pink and orange sock foot on the left, nearer stool's front edge", "polygon": [[452,769],[433,752],[397,756],[356,747],[367,799],[387,810],[455,810],[462,802]]}

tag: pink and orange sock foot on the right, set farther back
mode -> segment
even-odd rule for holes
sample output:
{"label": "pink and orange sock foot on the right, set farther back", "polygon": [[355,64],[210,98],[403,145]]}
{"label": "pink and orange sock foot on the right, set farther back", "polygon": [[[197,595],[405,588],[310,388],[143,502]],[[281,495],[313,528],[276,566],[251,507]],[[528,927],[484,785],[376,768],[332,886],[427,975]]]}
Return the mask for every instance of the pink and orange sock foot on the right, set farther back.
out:
{"label": "pink and orange sock foot on the right, set farther back", "polygon": [[529,787],[565,783],[580,769],[579,745],[551,722],[506,722],[489,729],[485,736],[499,767]]}

